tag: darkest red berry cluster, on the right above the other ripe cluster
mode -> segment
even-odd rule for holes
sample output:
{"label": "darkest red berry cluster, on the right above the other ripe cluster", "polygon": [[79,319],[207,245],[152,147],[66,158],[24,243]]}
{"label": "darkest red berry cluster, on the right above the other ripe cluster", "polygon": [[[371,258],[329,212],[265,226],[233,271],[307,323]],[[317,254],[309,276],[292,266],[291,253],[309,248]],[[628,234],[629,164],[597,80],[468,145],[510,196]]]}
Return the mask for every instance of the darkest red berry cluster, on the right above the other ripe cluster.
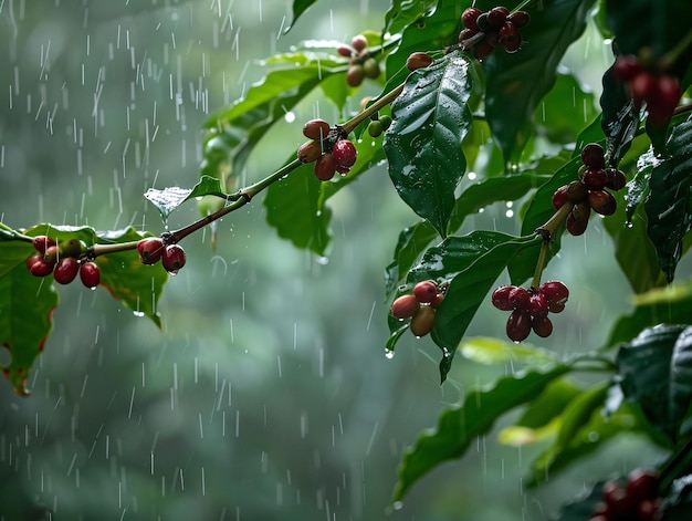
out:
{"label": "darkest red berry cluster, on the right above the other ripe cluster", "polygon": [[620,190],[627,179],[617,168],[606,168],[604,149],[597,143],[589,143],[581,149],[581,167],[579,180],[563,185],[553,194],[553,207],[557,210],[564,205],[573,204],[567,216],[567,231],[573,236],[580,236],[591,215],[591,210],[601,216],[610,216],[617,209],[612,194],[605,190]]}

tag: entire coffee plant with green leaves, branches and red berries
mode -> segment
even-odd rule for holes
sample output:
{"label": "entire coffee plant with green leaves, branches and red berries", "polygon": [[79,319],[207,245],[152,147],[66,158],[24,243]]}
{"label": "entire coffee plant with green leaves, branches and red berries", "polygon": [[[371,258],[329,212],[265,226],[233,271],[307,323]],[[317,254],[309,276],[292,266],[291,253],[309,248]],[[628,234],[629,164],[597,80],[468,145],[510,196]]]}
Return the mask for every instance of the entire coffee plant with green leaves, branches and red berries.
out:
{"label": "entire coffee plant with green leaves, branches and red berries", "polygon": [[[294,0],[293,24],[315,3]],[[164,219],[197,201],[198,221],[159,236],[0,223],[0,342],[10,355],[4,376],[19,394],[30,394],[28,375],[50,347],[54,283],[80,275],[86,288],[103,286],[160,325],[157,302],[169,274],[185,268],[188,235],[265,192],[269,226],[323,256],[329,199],[386,161],[394,189],[419,220],[399,233],[386,267],[391,334],[385,350],[392,353],[407,332],[430,338],[439,348],[441,383],[455,358],[474,352],[522,367],[440,413],[437,428],[405,451],[392,504],[515,411],[505,429],[522,434],[508,436],[513,442],[532,442],[538,431],[549,440],[526,487],[625,431],[668,454],[656,469],[594,477],[590,492],[565,498],[559,519],[690,519],[692,282],[675,279],[692,244],[690,20],[689,0],[392,0],[377,31],[346,43],[307,41],[270,56],[264,79],[207,122],[197,183],[145,194]],[[538,132],[541,107],[581,110],[572,94],[560,94],[584,92],[558,65],[587,23],[598,28],[612,55],[602,71],[600,111],[585,108],[588,121],[568,116],[559,129],[548,117]],[[347,114],[347,98],[373,82],[381,93]],[[344,118],[305,122],[308,140],[292,157],[234,189],[266,131],[319,88]],[[490,142],[501,161],[479,160]],[[470,171],[474,181],[462,183]],[[466,217],[496,201],[524,201],[520,236],[459,233]],[[559,337],[565,324],[558,313],[570,305],[569,289],[543,280],[543,271],[559,262],[562,240],[589,232],[594,213],[615,243],[615,257],[602,262],[619,265],[636,309],[587,354],[565,357],[517,345],[532,331],[537,341]],[[501,275],[511,283],[499,284]],[[508,312],[506,331],[468,338],[485,300]],[[593,384],[575,383],[572,376],[585,372],[593,373]]]}

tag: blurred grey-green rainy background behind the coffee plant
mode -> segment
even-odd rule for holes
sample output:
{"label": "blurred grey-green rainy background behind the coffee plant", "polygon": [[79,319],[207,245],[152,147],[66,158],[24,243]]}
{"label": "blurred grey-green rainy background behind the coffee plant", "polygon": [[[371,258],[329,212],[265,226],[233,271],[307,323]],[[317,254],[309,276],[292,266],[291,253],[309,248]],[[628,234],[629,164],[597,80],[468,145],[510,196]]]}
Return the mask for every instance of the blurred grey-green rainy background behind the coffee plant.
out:
{"label": "blurred grey-green rainy background behind the coffee plant", "polygon": [[[261,77],[256,60],[304,39],[379,31],[388,4],[321,0],[283,35],[290,0],[0,2],[2,221],[160,233],[143,192],[196,183],[201,125]],[[609,50],[589,31],[565,65],[598,91]],[[363,94],[377,92],[370,83]],[[266,136],[243,183],[295,150],[303,122],[339,114],[316,92],[295,116]],[[162,331],[103,289],[61,288],[33,395],[0,382],[0,519],[539,520],[590,479],[654,461],[649,446],[619,438],[522,491],[538,448],[492,434],[390,508],[405,447],[470,385],[511,367],[460,356],[440,387],[439,351],[410,335],[387,360],[382,271],[416,218],[384,166],[332,207],[325,259],[279,239],[259,200],[223,219],[216,251],[208,232],[186,239],[188,263],[160,301]],[[465,229],[516,232],[507,210],[489,208]],[[168,226],[197,215],[187,205]],[[598,223],[589,231],[565,240],[546,271],[573,291],[542,342],[563,353],[599,346],[630,309],[610,240]],[[484,305],[469,335],[503,336],[505,320]]]}

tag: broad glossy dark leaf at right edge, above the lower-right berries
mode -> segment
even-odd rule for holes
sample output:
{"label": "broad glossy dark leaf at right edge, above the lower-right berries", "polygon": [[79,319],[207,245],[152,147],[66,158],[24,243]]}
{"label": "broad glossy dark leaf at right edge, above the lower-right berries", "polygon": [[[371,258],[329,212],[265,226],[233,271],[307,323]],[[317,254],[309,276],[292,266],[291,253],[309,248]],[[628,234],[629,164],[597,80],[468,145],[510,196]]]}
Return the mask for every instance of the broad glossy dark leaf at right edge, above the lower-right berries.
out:
{"label": "broad glossy dark leaf at right edge, above the lower-right berries", "polygon": [[620,387],[671,439],[692,400],[692,326],[657,325],[620,347]]}

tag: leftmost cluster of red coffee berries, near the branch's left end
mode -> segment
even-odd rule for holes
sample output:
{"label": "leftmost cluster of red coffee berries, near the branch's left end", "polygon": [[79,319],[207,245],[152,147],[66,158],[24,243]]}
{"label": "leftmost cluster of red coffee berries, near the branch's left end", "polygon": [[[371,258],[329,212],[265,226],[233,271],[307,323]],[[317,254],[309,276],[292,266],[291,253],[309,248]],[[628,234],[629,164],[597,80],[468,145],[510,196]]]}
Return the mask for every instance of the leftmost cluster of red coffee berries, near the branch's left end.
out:
{"label": "leftmost cluster of red coffee berries, near the branch's left end", "polygon": [[34,277],[48,277],[51,273],[59,284],[69,284],[80,279],[86,288],[96,288],[101,282],[101,272],[95,262],[83,259],[86,247],[78,239],[69,239],[60,244],[48,237],[33,238],[36,253],[27,259],[27,268]]}

